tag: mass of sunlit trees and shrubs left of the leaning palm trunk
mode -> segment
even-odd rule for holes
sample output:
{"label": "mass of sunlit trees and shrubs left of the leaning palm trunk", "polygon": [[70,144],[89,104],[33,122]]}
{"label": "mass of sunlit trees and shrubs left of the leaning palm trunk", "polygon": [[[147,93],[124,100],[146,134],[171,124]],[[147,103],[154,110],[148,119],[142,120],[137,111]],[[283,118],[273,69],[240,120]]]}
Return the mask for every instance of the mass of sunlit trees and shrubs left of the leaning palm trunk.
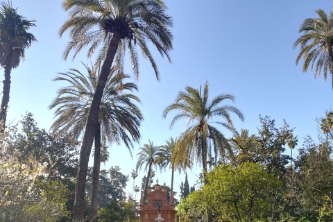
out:
{"label": "mass of sunlit trees and shrubs left of the leaning palm trunk", "polygon": [[43,215],[51,221],[66,221],[74,203],[77,143],[67,135],[53,142],[54,137],[37,127],[31,113],[20,123],[22,131],[12,128],[6,149],[1,148],[0,158],[6,161],[0,161],[0,191],[7,193],[1,196],[6,203],[1,206],[2,215],[5,221],[41,220]]}

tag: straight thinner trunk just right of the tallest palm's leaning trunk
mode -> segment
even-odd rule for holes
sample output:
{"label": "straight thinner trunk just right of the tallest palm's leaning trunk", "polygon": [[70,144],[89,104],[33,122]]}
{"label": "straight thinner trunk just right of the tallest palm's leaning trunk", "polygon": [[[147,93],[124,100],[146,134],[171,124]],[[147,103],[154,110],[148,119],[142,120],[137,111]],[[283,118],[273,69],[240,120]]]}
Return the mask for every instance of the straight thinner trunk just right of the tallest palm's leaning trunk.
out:
{"label": "straight thinner trunk just right of the tallest palm's leaning trunk", "polygon": [[101,169],[101,123],[98,123],[95,132],[94,167],[92,169],[92,209],[90,219],[97,222],[97,211],[99,210],[99,171]]}

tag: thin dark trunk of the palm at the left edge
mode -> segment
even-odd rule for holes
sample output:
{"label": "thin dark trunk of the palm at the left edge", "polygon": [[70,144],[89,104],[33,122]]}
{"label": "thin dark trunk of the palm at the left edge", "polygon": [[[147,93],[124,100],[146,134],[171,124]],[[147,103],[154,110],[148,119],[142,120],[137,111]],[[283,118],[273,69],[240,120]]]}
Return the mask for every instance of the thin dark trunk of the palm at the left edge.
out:
{"label": "thin dark trunk of the palm at the left edge", "polygon": [[[10,56],[11,58],[11,56]],[[5,66],[5,78],[3,80],[3,92],[2,92],[2,101],[1,101],[1,110],[0,110],[0,121],[3,121],[3,126],[0,123],[0,133],[5,131],[7,109],[9,103],[9,93],[10,93],[10,73],[12,71],[12,62],[7,62]]]}

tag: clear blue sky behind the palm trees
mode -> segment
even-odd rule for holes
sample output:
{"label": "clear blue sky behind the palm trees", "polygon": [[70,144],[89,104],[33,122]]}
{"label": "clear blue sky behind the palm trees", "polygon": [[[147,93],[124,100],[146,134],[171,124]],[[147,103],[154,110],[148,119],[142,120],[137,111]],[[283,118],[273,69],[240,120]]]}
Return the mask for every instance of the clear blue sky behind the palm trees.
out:
{"label": "clear blue sky behind the palm trees", "polygon": [[[316,17],[318,8],[329,13],[332,1],[165,2],[174,20],[173,63],[152,50],[161,73],[161,81],[157,82],[148,60],[140,60],[137,96],[142,100],[145,118],[142,140],[135,145],[133,159],[126,148],[112,146],[106,168],[117,165],[122,173],[130,174],[135,169],[138,148],[148,139],[162,145],[169,137],[178,137],[185,130],[185,121],[171,130],[169,123],[176,112],[167,119],[162,119],[162,112],[185,86],[199,87],[206,80],[211,97],[221,93],[236,96],[234,105],[246,118],[241,123],[234,117],[238,130],[247,128],[250,133],[257,133],[258,117],[262,114],[275,119],[278,127],[286,119],[291,128],[296,128],[294,135],[300,138],[299,146],[307,134],[317,137],[314,119],[323,117],[332,104],[331,76],[324,82],[323,78],[314,79],[310,71],[302,73],[302,65],[295,65],[299,49],[293,50],[293,42],[300,36],[298,29],[304,19]],[[28,111],[35,115],[38,126],[48,130],[53,121],[53,110],[48,110],[48,106],[62,86],[52,79],[69,68],[83,71],[80,61],[90,62],[84,51],[74,61],[63,60],[62,52],[69,39],[68,33],[61,39],[58,36],[60,26],[68,18],[61,4],[62,1],[12,1],[20,15],[37,21],[30,31],[38,42],[26,50],[26,60],[12,71],[8,121],[18,121]],[[130,68],[127,72],[132,74]],[[195,172],[188,171],[190,185],[197,180],[200,169],[198,166]],[[136,185],[141,184],[143,176],[142,171]],[[160,183],[169,185],[170,177],[169,171],[157,171]],[[184,180],[185,175],[176,174],[174,187],[178,188]],[[132,186],[130,180],[128,191]]]}

